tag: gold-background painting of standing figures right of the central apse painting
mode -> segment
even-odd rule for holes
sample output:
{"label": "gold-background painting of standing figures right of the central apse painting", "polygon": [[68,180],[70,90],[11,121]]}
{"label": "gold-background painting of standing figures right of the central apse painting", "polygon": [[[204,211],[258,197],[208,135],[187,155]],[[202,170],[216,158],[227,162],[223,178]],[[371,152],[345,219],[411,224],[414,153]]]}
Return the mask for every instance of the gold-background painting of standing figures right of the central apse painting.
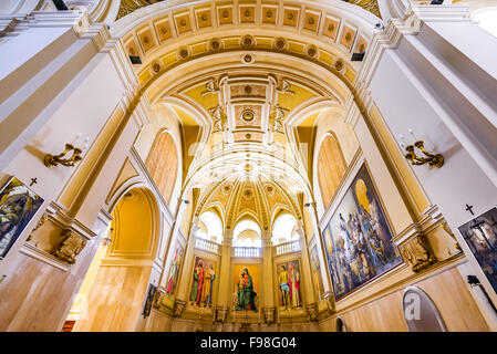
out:
{"label": "gold-background painting of standing figures right of the central apse painting", "polygon": [[278,298],[280,306],[284,309],[297,309],[302,306],[302,295],[300,291],[300,266],[298,260],[279,263],[278,274]]}

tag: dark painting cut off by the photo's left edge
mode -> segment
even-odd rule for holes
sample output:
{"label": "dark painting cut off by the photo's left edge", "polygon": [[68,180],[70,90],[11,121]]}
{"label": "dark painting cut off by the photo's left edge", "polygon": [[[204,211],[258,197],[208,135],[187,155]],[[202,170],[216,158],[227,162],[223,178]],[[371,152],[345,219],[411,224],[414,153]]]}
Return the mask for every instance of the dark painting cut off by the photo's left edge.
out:
{"label": "dark painting cut off by the photo's left edge", "polygon": [[31,221],[43,199],[11,177],[0,191],[0,259],[3,259]]}

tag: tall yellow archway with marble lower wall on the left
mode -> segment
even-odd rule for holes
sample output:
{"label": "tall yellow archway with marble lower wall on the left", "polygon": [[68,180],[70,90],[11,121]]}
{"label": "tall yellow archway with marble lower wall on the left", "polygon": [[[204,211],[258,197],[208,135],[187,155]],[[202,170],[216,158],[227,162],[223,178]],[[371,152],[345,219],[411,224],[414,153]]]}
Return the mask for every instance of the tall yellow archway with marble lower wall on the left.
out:
{"label": "tall yellow archway with marble lower wall on the left", "polygon": [[135,331],[143,310],[159,235],[156,200],[133,188],[112,216],[68,317],[75,332]]}

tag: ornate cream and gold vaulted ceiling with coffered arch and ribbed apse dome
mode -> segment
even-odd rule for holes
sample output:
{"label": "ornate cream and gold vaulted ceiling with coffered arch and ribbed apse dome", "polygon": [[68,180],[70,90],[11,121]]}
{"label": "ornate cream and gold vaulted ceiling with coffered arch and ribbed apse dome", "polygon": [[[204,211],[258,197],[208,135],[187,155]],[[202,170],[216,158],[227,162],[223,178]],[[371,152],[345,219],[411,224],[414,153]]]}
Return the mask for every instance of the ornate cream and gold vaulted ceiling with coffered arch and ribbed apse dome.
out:
{"label": "ornate cream and gold vaulted ceiling with coffered arch and ribbed apse dome", "polygon": [[217,208],[228,229],[249,216],[268,230],[281,210],[301,219],[299,192],[312,199],[293,127],[353,100],[361,62],[351,54],[367,50],[375,21],[335,0],[177,0],[134,11],[111,32],[141,58],[141,94],[200,132],[182,188],[199,188],[195,215]]}

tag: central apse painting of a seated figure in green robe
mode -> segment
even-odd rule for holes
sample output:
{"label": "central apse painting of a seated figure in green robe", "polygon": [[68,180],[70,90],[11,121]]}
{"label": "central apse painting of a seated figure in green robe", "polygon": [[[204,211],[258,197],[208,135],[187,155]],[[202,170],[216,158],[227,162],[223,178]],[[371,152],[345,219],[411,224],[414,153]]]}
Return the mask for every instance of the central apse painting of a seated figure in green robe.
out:
{"label": "central apse painting of a seated figure in green robe", "polygon": [[259,289],[259,266],[236,264],[234,267],[235,311],[259,311],[256,296]]}

